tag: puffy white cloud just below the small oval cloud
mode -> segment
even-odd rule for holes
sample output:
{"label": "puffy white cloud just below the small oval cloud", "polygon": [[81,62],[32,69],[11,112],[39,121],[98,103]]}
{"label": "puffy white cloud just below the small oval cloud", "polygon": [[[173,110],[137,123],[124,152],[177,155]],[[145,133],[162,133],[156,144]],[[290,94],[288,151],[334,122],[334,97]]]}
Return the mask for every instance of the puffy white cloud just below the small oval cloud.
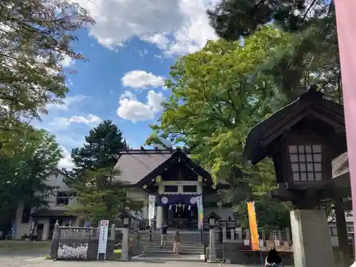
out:
{"label": "puffy white cloud just below the small oval cloud", "polygon": [[147,103],[142,103],[135,98],[122,98],[120,99],[120,107],[117,109],[117,115],[132,122],[153,120],[155,113],[162,110],[161,103],[163,100],[163,94],[155,93],[154,90],[147,93]]}

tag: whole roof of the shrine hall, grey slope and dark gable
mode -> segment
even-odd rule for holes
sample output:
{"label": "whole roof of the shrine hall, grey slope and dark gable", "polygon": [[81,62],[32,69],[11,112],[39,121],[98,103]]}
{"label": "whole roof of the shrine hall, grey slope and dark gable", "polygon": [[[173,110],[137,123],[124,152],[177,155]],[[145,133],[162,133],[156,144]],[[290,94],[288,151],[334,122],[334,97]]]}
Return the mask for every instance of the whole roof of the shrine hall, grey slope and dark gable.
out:
{"label": "whole roof of the shrine hall, grey slope and dark gable", "polygon": [[182,150],[127,150],[120,154],[114,169],[120,170],[116,178],[121,182],[142,187],[177,162],[187,164],[192,172],[212,184],[209,172],[195,164]]}

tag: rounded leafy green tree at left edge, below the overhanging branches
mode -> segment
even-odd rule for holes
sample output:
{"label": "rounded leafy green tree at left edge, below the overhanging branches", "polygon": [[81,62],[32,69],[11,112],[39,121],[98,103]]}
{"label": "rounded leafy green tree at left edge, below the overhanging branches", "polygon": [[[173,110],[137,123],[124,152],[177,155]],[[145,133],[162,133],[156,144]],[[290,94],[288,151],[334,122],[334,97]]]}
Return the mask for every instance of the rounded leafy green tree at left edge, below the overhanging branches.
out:
{"label": "rounded leafy green tree at left edge, below the overhanging branches", "polygon": [[55,137],[46,130],[36,130],[24,123],[15,127],[21,127],[23,135],[10,131],[0,150],[0,221],[3,222],[14,219],[21,201],[28,206],[48,205],[47,197],[53,187],[46,184],[46,179],[62,157]]}

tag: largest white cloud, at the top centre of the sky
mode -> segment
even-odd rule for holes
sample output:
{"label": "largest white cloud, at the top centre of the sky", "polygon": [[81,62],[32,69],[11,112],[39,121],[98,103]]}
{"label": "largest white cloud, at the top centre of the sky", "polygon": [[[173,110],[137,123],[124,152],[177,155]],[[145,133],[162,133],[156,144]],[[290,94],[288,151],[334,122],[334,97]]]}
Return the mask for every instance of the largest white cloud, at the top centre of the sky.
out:
{"label": "largest white cloud, at the top centre of the sky", "polygon": [[206,8],[219,0],[73,0],[90,11],[90,34],[108,48],[133,37],[154,43],[166,55],[197,51],[216,39]]}

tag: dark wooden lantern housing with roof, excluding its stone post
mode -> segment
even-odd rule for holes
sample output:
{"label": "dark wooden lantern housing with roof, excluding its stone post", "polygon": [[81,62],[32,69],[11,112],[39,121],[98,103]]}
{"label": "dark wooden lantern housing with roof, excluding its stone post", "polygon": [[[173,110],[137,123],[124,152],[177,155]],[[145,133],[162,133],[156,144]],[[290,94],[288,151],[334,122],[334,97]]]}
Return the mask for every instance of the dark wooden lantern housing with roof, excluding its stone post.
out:
{"label": "dark wooden lantern housing with roof, excluding its stone post", "polygon": [[252,164],[271,157],[279,198],[308,202],[320,200],[319,191],[332,187],[332,160],[346,150],[343,106],[323,98],[311,85],[251,129],[244,156]]}

